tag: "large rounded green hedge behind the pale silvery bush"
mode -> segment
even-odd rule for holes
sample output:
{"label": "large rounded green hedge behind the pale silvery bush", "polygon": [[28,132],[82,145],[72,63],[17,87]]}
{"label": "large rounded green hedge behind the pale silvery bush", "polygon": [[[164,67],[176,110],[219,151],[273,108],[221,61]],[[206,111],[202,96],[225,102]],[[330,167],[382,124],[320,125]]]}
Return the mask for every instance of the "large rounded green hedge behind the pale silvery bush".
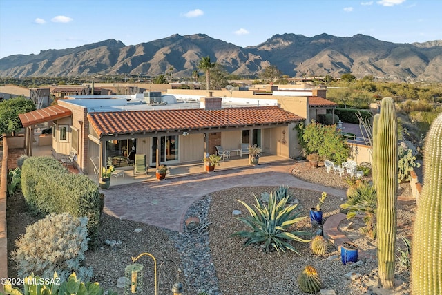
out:
{"label": "large rounded green hedge behind the pale silvery bush", "polygon": [[97,184],[86,175],[72,174],[50,157],[30,157],[23,162],[21,188],[28,207],[39,214],[70,213],[88,218],[88,235],[98,234],[100,198]]}

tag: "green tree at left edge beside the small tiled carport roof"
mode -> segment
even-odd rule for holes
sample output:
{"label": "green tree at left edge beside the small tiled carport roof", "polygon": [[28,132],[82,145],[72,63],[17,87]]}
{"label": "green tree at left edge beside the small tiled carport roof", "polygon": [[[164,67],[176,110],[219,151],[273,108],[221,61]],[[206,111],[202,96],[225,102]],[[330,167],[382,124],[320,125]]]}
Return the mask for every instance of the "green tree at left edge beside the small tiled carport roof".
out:
{"label": "green tree at left edge beside the small tiled carport roof", "polygon": [[35,104],[23,96],[14,97],[0,102],[0,133],[18,132],[23,125],[19,114],[35,110]]}

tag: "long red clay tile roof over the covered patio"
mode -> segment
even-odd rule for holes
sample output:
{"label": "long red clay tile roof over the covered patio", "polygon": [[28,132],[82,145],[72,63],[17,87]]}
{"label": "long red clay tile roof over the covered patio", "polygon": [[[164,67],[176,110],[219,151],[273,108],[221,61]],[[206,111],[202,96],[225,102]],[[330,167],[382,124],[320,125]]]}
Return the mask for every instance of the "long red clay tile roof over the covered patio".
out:
{"label": "long red clay tile roof over the covered patio", "polygon": [[99,137],[111,134],[287,124],[302,120],[305,119],[278,106],[222,108],[210,111],[194,108],[88,113],[88,121]]}

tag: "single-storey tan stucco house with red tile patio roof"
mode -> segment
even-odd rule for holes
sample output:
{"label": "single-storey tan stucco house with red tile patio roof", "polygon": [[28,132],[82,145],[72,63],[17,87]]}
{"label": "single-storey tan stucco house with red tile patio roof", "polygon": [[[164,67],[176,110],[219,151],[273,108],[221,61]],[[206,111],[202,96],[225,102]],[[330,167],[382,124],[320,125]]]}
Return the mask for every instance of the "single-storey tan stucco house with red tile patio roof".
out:
{"label": "single-storey tan stucco house with red tile patio roof", "polygon": [[206,153],[215,153],[215,146],[236,150],[242,143],[291,158],[299,152],[294,126],[305,120],[278,106],[222,108],[222,98],[213,96],[175,105],[70,98],[21,114],[20,119],[26,127],[28,155],[32,155],[33,126],[52,121],[53,155],[61,158],[75,151],[75,166],[84,173],[93,171],[90,158],[94,156],[101,166],[108,158],[116,166],[127,166],[132,150],[145,154],[149,166],[200,162]]}

